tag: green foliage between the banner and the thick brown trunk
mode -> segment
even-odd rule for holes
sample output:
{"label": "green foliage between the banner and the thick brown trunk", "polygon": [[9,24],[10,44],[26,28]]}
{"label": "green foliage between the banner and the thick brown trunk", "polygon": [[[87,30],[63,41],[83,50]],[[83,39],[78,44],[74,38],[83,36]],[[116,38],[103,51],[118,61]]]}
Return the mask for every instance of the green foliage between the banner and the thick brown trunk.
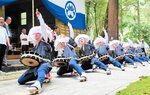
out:
{"label": "green foliage between the banner and the thick brown trunk", "polygon": [[[86,1],[87,27],[92,25],[95,37],[102,33],[106,19],[108,0]],[[87,32],[89,34],[89,31]]]}

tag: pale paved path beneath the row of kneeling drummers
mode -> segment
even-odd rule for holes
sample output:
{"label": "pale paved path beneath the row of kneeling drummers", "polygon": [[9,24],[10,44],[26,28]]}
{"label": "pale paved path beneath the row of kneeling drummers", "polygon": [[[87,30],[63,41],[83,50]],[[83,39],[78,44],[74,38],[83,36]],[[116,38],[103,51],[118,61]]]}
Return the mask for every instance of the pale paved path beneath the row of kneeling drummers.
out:
{"label": "pale paved path beneath the row of kneeling drummers", "polygon": [[[110,66],[112,75],[104,71],[87,72],[88,81],[79,82],[78,77],[70,74],[64,77],[56,75],[56,68],[52,70],[52,81],[43,85],[40,95],[115,95],[117,91],[125,88],[129,83],[139,79],[139,76],[150,75],[150,64],[134,69],[129,66],[126,71]],[[0,81],[0,95],[28,95],[26,87],[20,86],[17,80]]]}

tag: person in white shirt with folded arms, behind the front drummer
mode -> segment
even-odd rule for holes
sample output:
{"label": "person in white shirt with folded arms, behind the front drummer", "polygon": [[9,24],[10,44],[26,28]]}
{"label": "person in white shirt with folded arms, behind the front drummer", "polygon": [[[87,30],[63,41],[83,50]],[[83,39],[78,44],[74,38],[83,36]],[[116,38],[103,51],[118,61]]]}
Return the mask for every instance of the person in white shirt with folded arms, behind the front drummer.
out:
{"label": "person in white shirt with folded arms, behind the front drummer", "polygon": [[29,41],[28,41],[28,35],[25,28],[22,29],[22,34],[20,35],[20,41],[21,41],[21,47],[22,47],[22,53],[29,50]]}

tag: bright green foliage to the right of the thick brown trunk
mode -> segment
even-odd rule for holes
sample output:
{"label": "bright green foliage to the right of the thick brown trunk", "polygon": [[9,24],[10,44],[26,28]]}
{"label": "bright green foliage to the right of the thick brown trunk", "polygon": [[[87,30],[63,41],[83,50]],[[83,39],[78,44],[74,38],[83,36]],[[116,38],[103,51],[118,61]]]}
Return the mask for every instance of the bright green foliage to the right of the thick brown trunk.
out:
{"label": "bright green foliage to the right of the thick brown trunk", "polygon": [[150,26],[147,20],[149,4],[149,0],[119,1],[119,28],[125,39],[130,38],[137,41],[144,38],[146,42],[150,42],[148,39]]}

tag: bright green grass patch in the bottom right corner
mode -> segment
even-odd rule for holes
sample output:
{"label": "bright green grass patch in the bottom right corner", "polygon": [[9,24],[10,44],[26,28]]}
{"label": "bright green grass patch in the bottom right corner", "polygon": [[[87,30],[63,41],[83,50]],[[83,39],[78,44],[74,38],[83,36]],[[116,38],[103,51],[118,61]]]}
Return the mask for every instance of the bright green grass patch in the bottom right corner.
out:
{"label": "bright green grass patch in the bottom right corner", "polygon": [[150,95],[150,76],[140,77],[139,81],[131,83],[116,95]]}

